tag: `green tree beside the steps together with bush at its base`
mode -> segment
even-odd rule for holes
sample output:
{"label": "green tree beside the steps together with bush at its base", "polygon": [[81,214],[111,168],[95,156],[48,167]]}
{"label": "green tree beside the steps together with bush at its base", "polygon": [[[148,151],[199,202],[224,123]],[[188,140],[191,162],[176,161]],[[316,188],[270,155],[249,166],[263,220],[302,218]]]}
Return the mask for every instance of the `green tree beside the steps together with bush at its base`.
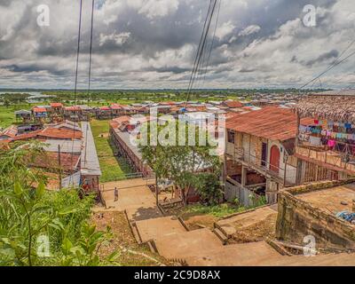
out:
{"label": "green tree beside the steps together with bush at its base", "polygon": [[[141,130],[142,138],[150,137],[150,124],[145,125]],[[211,154],[217,147],[210,144],[209,133],[196,128],[193,133],[194,145],[179,146],[181,133],[185,133],[185,141],[189,141],[190,133],[186,124],[181,126],[176,123],[174,126],[167,122],[167,125],[160,125],[157,132],[158,137],[163,139],[158,139],[156,146],[150,145],[150,140],[143,141],[143,146],[139,146],[142,159],[154,170],[155,183],[161,178],[171,180],[180,189],[185,204],[187,193],[192,188],[201,194],[202,201],[210,205],[217,204],[222,197],[219,183],[221,162],[217,155]],[[208,173],[202,172],[207,169]]]}

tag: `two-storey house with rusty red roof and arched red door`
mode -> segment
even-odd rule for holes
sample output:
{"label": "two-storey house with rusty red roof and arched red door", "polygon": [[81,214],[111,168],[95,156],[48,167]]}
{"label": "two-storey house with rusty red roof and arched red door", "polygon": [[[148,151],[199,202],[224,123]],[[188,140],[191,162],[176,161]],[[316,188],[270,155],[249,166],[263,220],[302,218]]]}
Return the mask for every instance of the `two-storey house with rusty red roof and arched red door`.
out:
{"label": "two-storey house with rusty red roof and arched red door", "polygon": [[[311,122],[304,119],[303,122]],[[226,120],[225,198],[238,198],[245,206],[265,196],[277,201],[277,193],[296,185],[294,156],[297,118],[290,108],[266,106]]]}

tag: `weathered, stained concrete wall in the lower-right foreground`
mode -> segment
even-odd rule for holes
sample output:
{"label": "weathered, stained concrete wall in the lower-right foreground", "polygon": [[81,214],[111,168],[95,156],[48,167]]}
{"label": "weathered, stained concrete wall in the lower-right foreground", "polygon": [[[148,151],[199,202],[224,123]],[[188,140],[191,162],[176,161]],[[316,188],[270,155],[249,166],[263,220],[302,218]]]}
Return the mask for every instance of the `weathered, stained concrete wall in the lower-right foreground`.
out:
{"label": "weathered, stained concrete wall in the lower-right foreground", "polygon": [[317,248],[355,249],[355,225],[343,221],[311,204],[297,199],[297,194],[325,189],[344,182],[320,182],[292,187],[279,193],[276,237],[304,245],[304,237],[313,235]]}

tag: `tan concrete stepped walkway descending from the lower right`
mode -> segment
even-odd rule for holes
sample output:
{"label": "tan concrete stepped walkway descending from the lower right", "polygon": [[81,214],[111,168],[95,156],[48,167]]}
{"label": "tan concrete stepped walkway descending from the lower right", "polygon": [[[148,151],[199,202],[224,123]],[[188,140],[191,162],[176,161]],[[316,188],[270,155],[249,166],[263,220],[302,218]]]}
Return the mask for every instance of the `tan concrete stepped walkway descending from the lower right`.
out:
{"label": "tan concrete stepped walkway descending from the lower right", "polygon": [[[155,206],[154,193],[145,179],[137,178],[104,185],[102,196],[108,210],[126,210],[131,221],[137,225],[143,242],[154,240],[161,256],[167,259],[184,259],[189,265],[355,265],[355,254],[327,256],[281,256],[265,241],[224,246],[209,229],[186,231],[177,217],[163,217]],[[114,187],[119,190],[114,201]],[[257,222],[275,211],[268,207],[256,209],[232,220],[220,222],[225,228],[243,222]],[[245,217],[245,216],[244,216]],[[246,224],[247,224],[246,223]],[[235,228],[235,227],[234,227]],[[232,233],[232,232],[231,232]]]}

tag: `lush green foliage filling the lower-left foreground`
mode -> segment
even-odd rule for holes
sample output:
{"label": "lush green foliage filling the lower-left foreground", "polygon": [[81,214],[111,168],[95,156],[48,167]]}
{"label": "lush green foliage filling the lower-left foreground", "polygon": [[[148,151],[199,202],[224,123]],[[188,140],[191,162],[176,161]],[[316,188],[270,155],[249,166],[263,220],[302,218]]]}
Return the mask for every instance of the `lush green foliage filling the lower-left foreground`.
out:
{"label": "lush green foliage filling the lower-left foreground", "polygon": [[24,162],[41,150],[29,148],[15,145],[0,151],[0,265],[86,266],[114,261],[115,252],[106,258],[98,255],[111,233],[89,224],[94,197],[80,189],[46,191],[43,172],[28,169]]}

